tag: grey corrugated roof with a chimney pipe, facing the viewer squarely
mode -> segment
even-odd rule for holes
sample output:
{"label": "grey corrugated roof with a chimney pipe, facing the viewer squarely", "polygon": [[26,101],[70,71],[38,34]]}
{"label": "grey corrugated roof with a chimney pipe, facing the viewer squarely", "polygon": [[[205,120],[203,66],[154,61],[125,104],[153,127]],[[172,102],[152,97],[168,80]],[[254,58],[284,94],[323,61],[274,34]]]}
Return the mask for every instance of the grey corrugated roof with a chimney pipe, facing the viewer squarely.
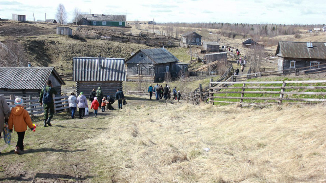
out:
{"label": "grey corrugated roof with a chimney pipe, facing the viewer squarely", "polygon": [[125,81],[125,59],[73,57],[73,81]]}

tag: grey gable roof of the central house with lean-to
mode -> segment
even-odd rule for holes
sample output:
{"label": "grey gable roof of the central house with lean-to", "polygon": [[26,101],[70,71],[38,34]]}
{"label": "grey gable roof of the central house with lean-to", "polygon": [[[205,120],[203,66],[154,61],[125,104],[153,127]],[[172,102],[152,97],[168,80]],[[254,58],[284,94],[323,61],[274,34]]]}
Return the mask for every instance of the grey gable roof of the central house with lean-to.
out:
{"label": "grey gable roof of the central house with lean-to", "polygon": [[141,49],[133,54],[130,58],[127,59],[126,63],[137,55],[139,52],[143,52],[146,56],[148,56],[154,63],[171,63],[171,62],[178,62],[177,59],[172,53],[164,48],[155,48],[155,49]]}

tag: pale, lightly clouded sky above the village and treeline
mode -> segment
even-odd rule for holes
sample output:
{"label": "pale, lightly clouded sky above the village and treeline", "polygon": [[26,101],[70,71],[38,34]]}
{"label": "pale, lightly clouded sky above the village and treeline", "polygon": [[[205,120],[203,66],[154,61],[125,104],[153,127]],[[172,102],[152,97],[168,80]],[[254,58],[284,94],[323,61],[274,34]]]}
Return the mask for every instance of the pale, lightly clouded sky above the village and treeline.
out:
{"label": "pale, lightly clouded sky above the village and treeline", "polygon": [[325,0],[0,0],[0,18],[54,19],[62,3],[68,22],[75,7],[93,14],[127,14],[128,21],[325,24]]}

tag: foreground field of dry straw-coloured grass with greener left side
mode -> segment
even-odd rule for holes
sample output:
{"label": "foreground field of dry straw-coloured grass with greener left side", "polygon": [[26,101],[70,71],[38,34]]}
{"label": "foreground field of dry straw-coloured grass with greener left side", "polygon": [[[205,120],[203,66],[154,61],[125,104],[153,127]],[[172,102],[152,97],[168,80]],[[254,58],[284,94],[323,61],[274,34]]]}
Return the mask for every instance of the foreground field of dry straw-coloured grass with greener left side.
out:
{"label": "foreground field of dry straw-coloured grass with greener left side", "polygon": [[92,110],[82,120],[56,115],[52,127],[26,133],[22,155],[1,140],[0,182],[326,181],[325,105],[240,108],[147,98],[130,95],[124,109],[98,118]]}

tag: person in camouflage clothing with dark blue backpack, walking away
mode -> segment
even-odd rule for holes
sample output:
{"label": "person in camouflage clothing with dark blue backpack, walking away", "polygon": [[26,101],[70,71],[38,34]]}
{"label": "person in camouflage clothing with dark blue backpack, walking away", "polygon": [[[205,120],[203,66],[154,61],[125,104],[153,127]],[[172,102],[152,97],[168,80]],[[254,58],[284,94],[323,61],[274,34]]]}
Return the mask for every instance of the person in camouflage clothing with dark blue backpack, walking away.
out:
{"label": "person in camouflage clothing with dark blue backpack, walking away", "polygon": [[[44,127],[46,127],[46,124],[49,126],[51,125],[51,119],[54,115],[54,101],[53,101],[53,94],[56,95],[57,91],[53,88],[52,81],[47,80],[46,81],[46,87],[41,90],[40,93],[40,100],[39,103],[44,107]],[[50,114],[49,114],[50,111]]]}

